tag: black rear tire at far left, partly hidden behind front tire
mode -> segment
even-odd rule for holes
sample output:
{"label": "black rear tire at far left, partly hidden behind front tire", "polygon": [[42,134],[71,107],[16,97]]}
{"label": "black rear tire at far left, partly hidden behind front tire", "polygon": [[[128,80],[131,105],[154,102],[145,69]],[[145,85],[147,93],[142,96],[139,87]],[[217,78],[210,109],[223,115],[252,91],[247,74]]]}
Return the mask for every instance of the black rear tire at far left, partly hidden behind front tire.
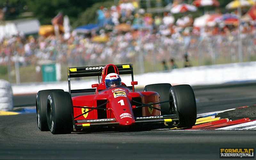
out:
{"label": "black rear tire at far left, partly hidden behind front tire", "polygon": [[36,94],[36,115],[37,115],[37,126],[40,131],[50,131],[46,119],[46,104],[47,97],[51,92],[64,92],[64,90],[42,90]]}

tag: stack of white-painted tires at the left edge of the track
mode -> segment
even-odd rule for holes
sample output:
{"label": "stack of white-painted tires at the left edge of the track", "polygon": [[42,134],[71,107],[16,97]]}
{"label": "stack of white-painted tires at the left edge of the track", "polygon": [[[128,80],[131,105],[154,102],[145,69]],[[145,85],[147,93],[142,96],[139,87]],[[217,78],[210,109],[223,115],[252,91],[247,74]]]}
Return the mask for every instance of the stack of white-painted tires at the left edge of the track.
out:
{"label": "stack of white-painted tires at the left edge of the track", "polygon": [[0,79],[0,110],[13,110],[13,94],[11,84],[3,79]]}

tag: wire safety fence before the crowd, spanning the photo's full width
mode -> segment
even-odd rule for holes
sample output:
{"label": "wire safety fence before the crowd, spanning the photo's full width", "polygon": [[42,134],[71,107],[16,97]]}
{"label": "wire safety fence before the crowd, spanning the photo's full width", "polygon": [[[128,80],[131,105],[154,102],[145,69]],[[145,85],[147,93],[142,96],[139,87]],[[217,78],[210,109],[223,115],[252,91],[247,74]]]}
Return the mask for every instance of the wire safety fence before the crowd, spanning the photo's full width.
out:
{"label": "wire safety fence before the crowd, spanning the photo's full width", "polygon": [[[242,43],[241,53],[239,42]],[[45,61],[60,63],[61,68],[132,63],[135,74],[141,74],[162,71],[162,61],[166,61],[170,69],[170,59],[175,60],[178,68],[183,68],[185,54],[188,55],[192,66],[256,60],[256,34],[253,32],[243,33],[240,37],[237,34],[182,36],[179,33],[162,36],[145,30],[138,32],[137,35],[126,33],[110,36],[108,42],[101,43],[92,43],[84,35],[77,35],[65,43],[58,39],[48,39],[43,41],[43,44],[44,47],[40,47],[39,42],[37,45],[31,45],[29,52],[23,55],[15,48],[9,51],[11,54],[2,54],[1,66],[9,64],[10,68],[14,68],[16,64],[21,68],[31,64],[38,66]],[[10,58],[8,55],[11,55]],[[66,72],[66,69],[64,71]]]}

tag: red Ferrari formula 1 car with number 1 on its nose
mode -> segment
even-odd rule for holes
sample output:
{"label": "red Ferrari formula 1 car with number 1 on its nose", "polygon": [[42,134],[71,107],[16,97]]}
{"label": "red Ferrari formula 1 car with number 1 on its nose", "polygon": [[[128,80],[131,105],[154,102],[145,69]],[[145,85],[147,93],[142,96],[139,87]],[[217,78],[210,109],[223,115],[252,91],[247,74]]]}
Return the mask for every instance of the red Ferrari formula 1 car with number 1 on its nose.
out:
{"label": "red Ferrari formula 1 car with number 1 on its nose", "polygon": [[[109,76],[111,74],[114,76]],[[121,81],[113,86],[107,84],[111,79],[117,82],[119,75],[124,74],[131,75],[132,86],[127,87]],[[71,90],[71,78],[87,76],[98,76],[99,83],[89,89]],[[85,132],[93,127],[172,125],[188,128],[196,123],[196,100],[190,85],[150,84],[144,92],[134,92],[136,84],[132,64],[68,68],[69,92],[54,89],[37,93],[38,128],[66,134]],[[95,94],[71,96],[85,92]]]}

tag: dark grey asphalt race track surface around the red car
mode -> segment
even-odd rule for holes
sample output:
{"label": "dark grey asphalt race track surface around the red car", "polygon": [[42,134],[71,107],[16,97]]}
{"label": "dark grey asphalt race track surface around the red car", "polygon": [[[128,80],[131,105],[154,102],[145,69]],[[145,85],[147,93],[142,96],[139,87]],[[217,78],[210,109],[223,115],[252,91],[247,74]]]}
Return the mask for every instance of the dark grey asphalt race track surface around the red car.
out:
{"label": "dark grey asphalt race track surface around the red car", "polygon": [[[197,114],[256,104],[256,83],[194,86],[193,89]],[[31,96],[14,97],[14,105],[31,100],[35,106],[35,95]],[[0,122],[0,159],[219,159],[220,148],[256,148],[256,130],[52,135],[37,128],[36,114],[0,116]]]}

